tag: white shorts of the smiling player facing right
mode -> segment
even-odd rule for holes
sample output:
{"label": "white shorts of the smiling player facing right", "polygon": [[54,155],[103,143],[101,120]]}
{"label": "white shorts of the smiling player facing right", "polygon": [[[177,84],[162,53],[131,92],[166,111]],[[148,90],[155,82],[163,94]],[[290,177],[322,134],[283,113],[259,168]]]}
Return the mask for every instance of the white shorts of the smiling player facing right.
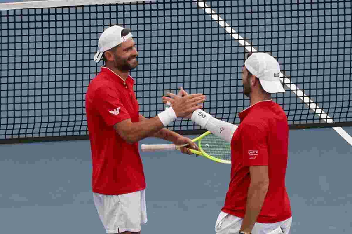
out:
{"label": "white shorts of the smiling player facing right", "polygon": [[140,232],[147,222],[145,189],[120,195],[93,193],[94,205],[106,233]]}

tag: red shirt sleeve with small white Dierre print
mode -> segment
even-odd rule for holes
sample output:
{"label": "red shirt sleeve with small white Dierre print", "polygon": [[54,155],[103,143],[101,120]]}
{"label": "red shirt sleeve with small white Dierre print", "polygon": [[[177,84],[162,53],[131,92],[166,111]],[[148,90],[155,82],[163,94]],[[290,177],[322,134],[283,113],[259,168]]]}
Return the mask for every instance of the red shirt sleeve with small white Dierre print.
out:
{"label": "red shirt sleeve with small white Dierre print", "polygon": [[241,144],[245,166],[268,165],[268,143],[262,127],[245,125],[242,128]]}

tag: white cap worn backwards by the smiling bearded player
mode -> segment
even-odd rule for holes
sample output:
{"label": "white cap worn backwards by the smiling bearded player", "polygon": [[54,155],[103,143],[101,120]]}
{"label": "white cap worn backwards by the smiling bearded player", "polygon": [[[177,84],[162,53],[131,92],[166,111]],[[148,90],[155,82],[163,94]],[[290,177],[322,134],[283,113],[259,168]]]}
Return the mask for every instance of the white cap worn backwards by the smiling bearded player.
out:
{"label": "white cap worn backwards by the smiling bearded player", "polygon": [[98,42],[98,52],[94,55],[94,61],[99,62],[103,53],[109,49],[120,45],[122,42],[127,41],[132,37],[132,33],[128,33],[126,36],[121,36],[121,32],[124,28],[118,25],[108,27],[100,35]]}

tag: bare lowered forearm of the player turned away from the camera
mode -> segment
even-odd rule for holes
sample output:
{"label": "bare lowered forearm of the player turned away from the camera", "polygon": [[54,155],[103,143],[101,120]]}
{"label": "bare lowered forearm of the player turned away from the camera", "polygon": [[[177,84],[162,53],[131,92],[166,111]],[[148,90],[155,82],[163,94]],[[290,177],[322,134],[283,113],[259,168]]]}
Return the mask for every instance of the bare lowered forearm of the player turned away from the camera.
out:
{"label": "bare lowered forearm of the player turned away from the camera", "polygon": [[262,209],[269,183],[250,184],[247,195],[246,213],[242,221],[241,229],[245,233],[250,233],[257,221]]}

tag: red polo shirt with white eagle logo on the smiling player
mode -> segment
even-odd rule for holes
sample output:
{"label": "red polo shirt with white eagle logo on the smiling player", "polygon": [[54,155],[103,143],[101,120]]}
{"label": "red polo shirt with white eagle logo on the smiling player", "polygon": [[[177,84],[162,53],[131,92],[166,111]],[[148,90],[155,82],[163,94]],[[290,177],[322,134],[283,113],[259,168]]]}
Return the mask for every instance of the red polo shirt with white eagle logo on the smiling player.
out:
{"label": "red polo shirt with white eagle logo on the smiling player", "polygon": [[138,142],[130,144],[113,125],[122,120],[139,121],[134,80],[126,81],[106,67],[89,83],[86,112],[92,150],[92,189],[101,194],[132,193],[145,188]]}

